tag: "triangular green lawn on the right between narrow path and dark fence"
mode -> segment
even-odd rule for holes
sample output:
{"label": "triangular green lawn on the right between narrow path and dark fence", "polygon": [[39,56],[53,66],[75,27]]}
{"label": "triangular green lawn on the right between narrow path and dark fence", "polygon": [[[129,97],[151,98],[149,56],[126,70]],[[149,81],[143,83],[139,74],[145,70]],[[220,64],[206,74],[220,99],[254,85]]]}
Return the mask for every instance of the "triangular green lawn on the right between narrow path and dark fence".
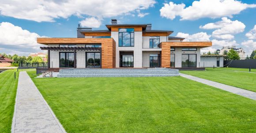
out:
{"label": "triangular green lawn on the right between narrow path and dark fence", "polygon": [[207,68],[206,71],[180,72],[256,92],[256,73],[235,72],[211,68]]}

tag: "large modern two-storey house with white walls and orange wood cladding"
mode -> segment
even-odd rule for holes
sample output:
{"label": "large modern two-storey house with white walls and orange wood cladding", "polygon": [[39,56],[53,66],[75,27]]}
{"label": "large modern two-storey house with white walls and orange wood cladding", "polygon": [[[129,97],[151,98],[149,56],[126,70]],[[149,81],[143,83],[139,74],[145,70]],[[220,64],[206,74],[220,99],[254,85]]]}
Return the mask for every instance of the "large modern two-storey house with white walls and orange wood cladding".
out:
{"label": "large modern two-storey house with white walls and orange wood cladding", "polygon": [[173,31],[153,30],[151,24],[117,24],[106,30],[77,28],[77,38],[38,38],[47,45],[51,68],[199,67],[200,49],[211,42],[182,42]]}

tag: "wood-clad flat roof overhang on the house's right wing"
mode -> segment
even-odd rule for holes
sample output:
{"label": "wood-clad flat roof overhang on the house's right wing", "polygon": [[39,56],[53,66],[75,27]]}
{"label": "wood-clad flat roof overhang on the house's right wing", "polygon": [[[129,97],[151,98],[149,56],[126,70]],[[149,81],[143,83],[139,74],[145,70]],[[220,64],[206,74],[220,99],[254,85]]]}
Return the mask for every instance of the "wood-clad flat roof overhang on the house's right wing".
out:
{"label": "wood-clad flat roof overhang on the house's right wing", "polygon": [[160,45],[169,45],[170,47],[211,47],[212,42],[162,42]]}

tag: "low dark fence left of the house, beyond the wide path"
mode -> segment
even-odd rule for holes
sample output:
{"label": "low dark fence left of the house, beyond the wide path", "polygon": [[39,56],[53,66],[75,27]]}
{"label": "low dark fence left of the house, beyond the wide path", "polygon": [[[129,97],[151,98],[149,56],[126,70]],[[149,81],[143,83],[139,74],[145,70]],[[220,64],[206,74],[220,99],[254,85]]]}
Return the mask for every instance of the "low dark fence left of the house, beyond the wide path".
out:
{"label": "low dark fence left of the house, beyond the wide path", "polygon": [[19,63],[19,69],[48,68],[47,62]]}

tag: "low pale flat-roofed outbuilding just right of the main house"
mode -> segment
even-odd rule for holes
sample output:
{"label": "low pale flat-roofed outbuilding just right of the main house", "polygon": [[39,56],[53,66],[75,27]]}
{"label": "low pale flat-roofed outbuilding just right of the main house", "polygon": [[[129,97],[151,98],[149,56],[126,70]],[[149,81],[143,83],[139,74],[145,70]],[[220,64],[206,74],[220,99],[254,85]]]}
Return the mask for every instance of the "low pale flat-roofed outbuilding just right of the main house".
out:
{"label": "low pale flat-roofed outbuilding just right of the main house", "polygon": [[223,55],[201,55],[200,67],[223,67]]}

